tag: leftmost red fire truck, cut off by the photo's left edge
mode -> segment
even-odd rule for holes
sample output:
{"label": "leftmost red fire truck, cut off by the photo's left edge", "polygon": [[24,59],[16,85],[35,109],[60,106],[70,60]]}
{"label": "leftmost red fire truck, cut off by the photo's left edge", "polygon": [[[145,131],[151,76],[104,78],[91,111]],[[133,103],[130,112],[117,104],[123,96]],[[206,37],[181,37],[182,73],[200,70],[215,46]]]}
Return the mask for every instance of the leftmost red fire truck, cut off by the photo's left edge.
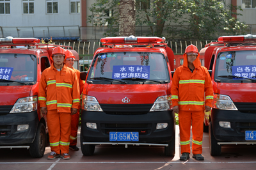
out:
{"label": "leftmost red fire truck, cut off by the photo's left edge", "polygon": [[38,87],[57,46],[38,43],[37,38],[0,38],[0,149],[27,148],[32,157],[45,151],[48,130]]}

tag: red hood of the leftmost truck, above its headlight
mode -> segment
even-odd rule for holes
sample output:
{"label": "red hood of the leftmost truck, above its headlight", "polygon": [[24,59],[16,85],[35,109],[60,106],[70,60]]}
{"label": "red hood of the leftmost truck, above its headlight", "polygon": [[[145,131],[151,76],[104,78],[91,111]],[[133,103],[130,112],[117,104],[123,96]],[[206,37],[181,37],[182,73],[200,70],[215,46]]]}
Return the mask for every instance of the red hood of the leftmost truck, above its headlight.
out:
{"label": "red hood of the leftmost truck, above its headlight", "polygon": [[14,105],[22,97],[29,97],[31,86],[0,86],[0,105]]}

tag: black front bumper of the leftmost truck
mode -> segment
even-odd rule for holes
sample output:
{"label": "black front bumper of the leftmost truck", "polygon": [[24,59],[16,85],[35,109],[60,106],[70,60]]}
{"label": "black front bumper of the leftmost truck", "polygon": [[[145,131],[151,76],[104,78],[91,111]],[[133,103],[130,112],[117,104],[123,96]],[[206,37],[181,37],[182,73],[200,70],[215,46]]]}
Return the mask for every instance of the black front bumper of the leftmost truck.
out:
{"label": "black front bumper of the leftmost truck", "polygon": [[[29,125],[29,128],[17,131],[17,125]],[[33,143],[37,126],[37,111],[1,115],[0,146],[20,146]]]}

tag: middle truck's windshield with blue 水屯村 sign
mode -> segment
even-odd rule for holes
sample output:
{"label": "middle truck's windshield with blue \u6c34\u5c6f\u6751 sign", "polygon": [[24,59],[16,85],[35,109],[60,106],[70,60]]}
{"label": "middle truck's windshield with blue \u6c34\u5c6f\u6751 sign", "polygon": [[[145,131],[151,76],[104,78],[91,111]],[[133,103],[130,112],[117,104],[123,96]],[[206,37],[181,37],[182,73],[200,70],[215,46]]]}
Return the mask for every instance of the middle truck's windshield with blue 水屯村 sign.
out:
{"label": "middle truck's windshield with blue \u6c34\u5c6f\u6751 sign", "polygon": [[133,84],[134,81],[163,83],[170,80],[164,55],[154,52],[98,54],[93,59],[88,73],[88,78],[91,80],[96,80],[97,77],[106,77],[113,81],[121,80],[129,82],[129,84]]}

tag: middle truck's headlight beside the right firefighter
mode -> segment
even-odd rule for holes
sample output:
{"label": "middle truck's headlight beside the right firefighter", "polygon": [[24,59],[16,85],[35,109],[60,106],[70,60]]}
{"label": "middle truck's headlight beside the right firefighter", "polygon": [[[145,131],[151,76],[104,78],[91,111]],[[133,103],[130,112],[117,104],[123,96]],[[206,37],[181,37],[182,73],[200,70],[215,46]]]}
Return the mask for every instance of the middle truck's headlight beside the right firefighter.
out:
{"label": "middle truck's headlight beside the right firefighter", "polygon": [[171,105],[171,95],[157,97],[156,102],[154,102],[154,105],[150,109],[150,112],[168,111],[171,109]]}

